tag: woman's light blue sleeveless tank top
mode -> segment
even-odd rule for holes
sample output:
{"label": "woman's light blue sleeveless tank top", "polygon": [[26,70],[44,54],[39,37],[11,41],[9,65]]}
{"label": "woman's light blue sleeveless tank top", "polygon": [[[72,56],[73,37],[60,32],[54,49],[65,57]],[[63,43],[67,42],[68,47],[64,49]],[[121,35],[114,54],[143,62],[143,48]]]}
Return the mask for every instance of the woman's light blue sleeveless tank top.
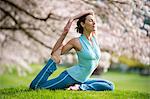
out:
{"label": "woman's light blue sleeveless tank top", "polygon": [[94,36],[92,37],[93,45],[89,43],[84,34],[79,37],[79,41],[82,49],[77,51],[78,64],[68,68],[67,72],[75,80],[85,82],[99,63],[100,48]]}

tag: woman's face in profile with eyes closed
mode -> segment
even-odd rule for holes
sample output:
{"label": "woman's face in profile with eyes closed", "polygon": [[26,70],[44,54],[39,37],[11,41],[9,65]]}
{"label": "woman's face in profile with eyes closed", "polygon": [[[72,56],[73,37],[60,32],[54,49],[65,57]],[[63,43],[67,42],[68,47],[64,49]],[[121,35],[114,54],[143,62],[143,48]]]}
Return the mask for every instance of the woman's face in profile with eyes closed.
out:
{"label": "woman's face in profile with eyes closed", "polygon": [[86,16],[83,28],[88,32],[93,32],[96,29],[95,18],[93,15]]}

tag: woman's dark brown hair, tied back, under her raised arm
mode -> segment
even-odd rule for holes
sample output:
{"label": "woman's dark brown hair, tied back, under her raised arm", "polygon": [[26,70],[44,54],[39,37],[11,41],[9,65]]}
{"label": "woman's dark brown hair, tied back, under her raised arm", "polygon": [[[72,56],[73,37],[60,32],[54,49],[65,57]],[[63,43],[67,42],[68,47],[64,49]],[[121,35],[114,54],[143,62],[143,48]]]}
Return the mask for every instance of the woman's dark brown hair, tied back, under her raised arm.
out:
{"label": "woman's dark brown hair, tied back, under her raised arm", "polygon": [[81,17],[79,18],[79,20],[77,21],[77,27],[76,27],[75,29],[76,29],[76,31],[77,31],[78,33],[80,33],[80,34],[83,34],[83,27],[82,27],[82,25],[81,25],[81,22],[85,23],[86,16],[88,16],[88,15],[91,15],[91,14],[90,14],[90,13],[85,14],[85,15],[81,16]]}

